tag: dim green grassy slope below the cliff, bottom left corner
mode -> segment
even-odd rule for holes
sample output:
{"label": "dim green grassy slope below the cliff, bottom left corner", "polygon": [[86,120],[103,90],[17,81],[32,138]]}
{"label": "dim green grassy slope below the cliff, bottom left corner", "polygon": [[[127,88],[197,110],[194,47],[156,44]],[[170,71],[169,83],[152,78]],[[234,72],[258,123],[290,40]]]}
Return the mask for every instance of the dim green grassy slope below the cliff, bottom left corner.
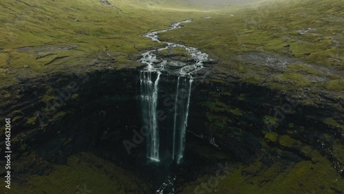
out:
{"label": "dim green grassy slope below the cliff, bottom left corner", "polygon": [[72,155],[64,165],[49,164],[35,155],[21,162],[31,165],[23,173],[39,175],[16,177],[10,190],[1,186],[1,193],[149,193],[151,189],[135,174],[90,153]]}

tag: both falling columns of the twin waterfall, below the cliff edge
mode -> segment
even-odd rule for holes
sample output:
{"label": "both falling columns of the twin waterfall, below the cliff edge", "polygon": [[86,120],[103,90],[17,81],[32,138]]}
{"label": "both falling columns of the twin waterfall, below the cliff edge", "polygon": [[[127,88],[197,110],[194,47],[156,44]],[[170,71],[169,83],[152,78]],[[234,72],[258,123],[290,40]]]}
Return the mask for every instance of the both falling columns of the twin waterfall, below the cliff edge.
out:
{"label": "both falling columns of the twin waterfall, below the cliff edge", "polygon": [[[153,76],[157,74],[153,82]],[[147,158],[154,162],[159,162],[159,128],[157,119],[158,106],[158,84],[161,72],[142,71],[140,72],[141,87],[141,110],[144,125],[149,129],[147,136]],[[173,153],[172,160],[179,164],[183,158],[186,127],[189,116],[189,104],[191,96],[191,84],[193,78],[179,76],[175,94],[175,107],[173,118]]]}

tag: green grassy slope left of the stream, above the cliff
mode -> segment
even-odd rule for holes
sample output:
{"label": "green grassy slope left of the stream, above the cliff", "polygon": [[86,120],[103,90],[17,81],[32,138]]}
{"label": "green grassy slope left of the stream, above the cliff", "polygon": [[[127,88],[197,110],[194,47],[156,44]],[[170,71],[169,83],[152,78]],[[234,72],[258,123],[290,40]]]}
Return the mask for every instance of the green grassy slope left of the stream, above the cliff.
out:
{"label": "green grassy slope left of the stream, above the cliff", "polygon": [[1,1],[0,85],[63,70],[135,67],[140,51],[157,46],[140,34],[197,14],[168,10],[164,1],[104,2]]}

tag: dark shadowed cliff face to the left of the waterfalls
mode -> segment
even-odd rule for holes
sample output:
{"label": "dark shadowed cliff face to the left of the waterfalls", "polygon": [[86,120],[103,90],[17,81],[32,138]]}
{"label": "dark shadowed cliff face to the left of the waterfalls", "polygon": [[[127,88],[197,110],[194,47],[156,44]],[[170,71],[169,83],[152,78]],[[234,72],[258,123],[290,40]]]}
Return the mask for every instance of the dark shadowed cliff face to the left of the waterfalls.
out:
{"label": "dark shadowed cliff face to the left of the waterfalls", "polygon": [[21,129],[15,131],[15,149],[36,150],[54,162],[65,162],[76,151],[99,153],[100,147],[126,153],[122,140],[131,138],[140,122],[138,85],[132,70],[23,82],[17,107],[6,109]]}

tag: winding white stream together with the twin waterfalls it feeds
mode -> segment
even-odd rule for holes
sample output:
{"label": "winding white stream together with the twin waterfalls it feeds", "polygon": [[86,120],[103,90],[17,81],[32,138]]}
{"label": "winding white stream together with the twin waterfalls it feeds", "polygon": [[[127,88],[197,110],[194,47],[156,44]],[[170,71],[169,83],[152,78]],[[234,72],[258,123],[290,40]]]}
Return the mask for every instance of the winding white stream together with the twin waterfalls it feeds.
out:
{"label": "winding white stream together with the twin waterfalls it feeds", "polygon": [[[178,43],[162,42],[158,39],[158,34],[181,28],[182,23],[189,23],[191,19],[173,23],[167,30],[148,32],[143,36],[152,41],[165,43],[165,46],[158,50],[150,50],[141,54],[140,62],[146,65],[140,72],[140,103],[142,120],[149,128],[147,136],[147,158],[153,162],[160,162],[160,131],[158,123],[158,94],[159,80],[161,76],[173,74],[178,77],[174,102],[173,115],[173,145],[171,160],[177,164],[182,162],[184,147],[186,142],[186,127],[189,114],[189,104],[191,96],[191,85],[193,83],[192,73],[202,69],[204,61],[208,61],[208,54],[202,53],[195,47],[180,45]],[[174,61],[166,56],[158,56],[158,52],[169,50],[173,47],[181,47],[189,52],[191,60],[188,62]]]}

